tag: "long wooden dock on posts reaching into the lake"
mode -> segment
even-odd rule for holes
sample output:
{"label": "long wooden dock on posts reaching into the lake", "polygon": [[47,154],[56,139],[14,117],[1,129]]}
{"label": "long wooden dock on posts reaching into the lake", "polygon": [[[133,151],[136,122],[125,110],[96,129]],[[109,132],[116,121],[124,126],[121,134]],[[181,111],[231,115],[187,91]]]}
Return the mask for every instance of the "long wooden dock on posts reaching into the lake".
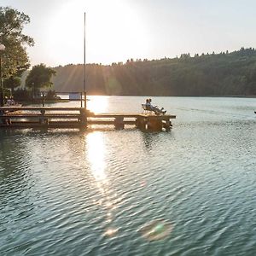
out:
{"label": "long wooden dock on posts reaching into the lake", "polygon": [[79,128],[88,125],[113,125],[121,130],[135,125],[142,131],[170,131],[175,115],[139,113],[91,113],[85,108],[0,107],[0,128],[48,129]]}

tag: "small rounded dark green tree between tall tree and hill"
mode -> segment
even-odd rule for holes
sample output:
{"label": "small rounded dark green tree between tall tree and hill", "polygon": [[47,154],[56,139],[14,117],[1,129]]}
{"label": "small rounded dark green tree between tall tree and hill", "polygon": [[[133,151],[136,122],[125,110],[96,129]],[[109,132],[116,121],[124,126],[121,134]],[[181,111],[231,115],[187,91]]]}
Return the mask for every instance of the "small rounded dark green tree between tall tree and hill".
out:
{"label": "small rounded dark green tree between tall tree and hill", "polygon": [[39,90],[44,87],[49,88],[53,85],[50,79],[55,73],[54,69],[46,67],[44,64],[34,66],[26,77],[26,87],[33,90]]}

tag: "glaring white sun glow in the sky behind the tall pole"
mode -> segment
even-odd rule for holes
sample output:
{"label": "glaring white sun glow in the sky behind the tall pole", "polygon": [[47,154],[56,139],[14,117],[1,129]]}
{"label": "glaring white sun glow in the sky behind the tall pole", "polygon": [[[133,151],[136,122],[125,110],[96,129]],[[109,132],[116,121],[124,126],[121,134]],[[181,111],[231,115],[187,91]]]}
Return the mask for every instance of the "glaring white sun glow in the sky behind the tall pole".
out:
{"label": "glaring white sun glow in the sky behind the tall pole", "polygon": [[110,64],[146,55],[150,42],[142,18],[120,0],[73,0],[56,10],[49,26],[53,55],[61,63],[83,63],[84,12],[86,62]]}

